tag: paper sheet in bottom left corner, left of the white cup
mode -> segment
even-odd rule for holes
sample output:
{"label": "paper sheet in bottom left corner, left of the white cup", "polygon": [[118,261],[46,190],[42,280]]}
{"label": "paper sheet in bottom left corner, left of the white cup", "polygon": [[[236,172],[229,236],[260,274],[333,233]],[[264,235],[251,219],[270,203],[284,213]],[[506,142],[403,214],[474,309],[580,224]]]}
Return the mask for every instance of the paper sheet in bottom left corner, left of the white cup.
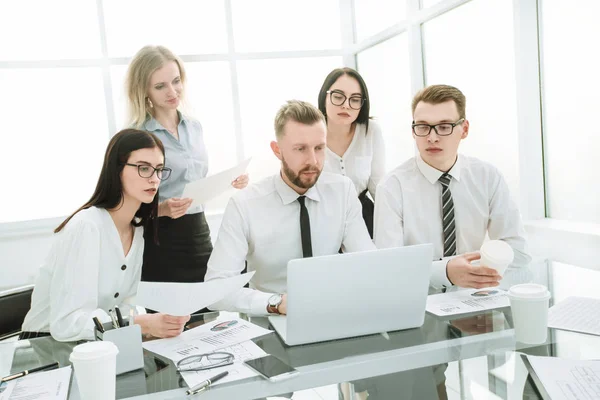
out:
{"label": "paper sheet in bottom left corner, left of the white cup", "polygon": [[36,372],[8,382],[0,400],[66,400],[71,366]]}

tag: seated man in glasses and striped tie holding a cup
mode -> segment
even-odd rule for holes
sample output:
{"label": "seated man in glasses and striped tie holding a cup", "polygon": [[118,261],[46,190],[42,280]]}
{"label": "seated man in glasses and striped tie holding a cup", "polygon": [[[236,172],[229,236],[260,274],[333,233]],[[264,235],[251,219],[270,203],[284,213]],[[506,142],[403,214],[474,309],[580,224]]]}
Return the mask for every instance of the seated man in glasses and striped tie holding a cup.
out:
{"label": "seated man in glasses and striped tie holding a cup", "polygon": [[419,154],[390,172],[377,189],[375,244],[433,243],[434,287],[499,284],[496,270],[471,265],[480,258],[475,252],[486,234],[514,250],[507,273],[531,261],[519,210],[500,172],[458,154],[469,134],[465,108],[465,96],[452,86],[432,85],[417,93],[412,130]]}

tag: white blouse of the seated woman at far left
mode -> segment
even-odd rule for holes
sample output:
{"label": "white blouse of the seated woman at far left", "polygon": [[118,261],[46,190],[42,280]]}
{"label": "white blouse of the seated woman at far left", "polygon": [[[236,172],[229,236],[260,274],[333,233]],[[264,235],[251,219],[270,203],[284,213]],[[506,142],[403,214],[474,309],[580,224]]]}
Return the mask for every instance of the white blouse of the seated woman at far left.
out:
{"label": "white blouse of the seated woman at far left", "polygon": [[94,339],[93,317],[135,295],[142,271],[143,227],[127,256],[104,208],[81,210],[54,237],[31,299],[23,331],[50,332],[59,341]]}

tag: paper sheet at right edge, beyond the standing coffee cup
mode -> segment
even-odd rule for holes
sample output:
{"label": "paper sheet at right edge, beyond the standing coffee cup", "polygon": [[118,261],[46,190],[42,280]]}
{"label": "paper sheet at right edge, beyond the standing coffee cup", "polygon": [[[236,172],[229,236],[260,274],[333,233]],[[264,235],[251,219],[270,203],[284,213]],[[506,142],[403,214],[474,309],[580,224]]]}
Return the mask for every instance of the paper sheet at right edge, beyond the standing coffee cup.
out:
{"label": "paper sheet at right edge, beyond the standing coffee cup", "polygon": [[[595,316],[595,317],[593,317]],[[600,335],[600,299],[568,297],[548,310],[548,326]]]}

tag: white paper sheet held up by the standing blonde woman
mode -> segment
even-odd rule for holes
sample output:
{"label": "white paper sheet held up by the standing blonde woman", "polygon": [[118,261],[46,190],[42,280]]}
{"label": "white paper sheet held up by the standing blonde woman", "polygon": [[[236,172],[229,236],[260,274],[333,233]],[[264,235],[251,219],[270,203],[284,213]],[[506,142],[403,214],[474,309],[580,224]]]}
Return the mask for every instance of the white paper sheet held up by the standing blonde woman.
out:
{"label": "white paper sheet held up by the standing blonde woman", "polygon": [[219,196],[231,188],[231,182],[240,175],[243,175],[250,164],[252,157],[242,161],[233,168],[221,171],[218,174],[207,176],[185,185],[182,198],[194,199],[193,205],[204,204],[207,201]]}

